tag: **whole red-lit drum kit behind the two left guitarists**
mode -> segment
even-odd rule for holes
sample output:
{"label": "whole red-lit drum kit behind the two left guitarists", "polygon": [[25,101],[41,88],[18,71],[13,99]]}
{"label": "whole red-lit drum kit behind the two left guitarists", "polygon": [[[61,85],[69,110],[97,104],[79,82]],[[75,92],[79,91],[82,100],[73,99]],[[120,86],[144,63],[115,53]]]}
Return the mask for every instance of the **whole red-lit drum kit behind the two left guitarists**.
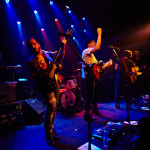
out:
{"label": "whole red-lit drum kit behind the two left guitarists", "polygon": [[73,110],[82,99],[80,94],[81,69],[73,72],[77,75],[69,76],[71,79],[67,80],[66,84],[60,85],[60,105],[63,110]]}

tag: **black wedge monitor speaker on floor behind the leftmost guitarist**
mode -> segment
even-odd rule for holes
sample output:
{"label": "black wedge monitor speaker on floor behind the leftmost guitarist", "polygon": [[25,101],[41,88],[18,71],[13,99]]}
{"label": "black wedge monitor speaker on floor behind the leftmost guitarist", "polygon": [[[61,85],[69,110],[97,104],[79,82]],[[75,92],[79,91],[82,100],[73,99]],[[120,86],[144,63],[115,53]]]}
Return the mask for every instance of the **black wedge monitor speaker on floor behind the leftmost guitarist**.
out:
{"label": "black wedge monitor speaker on floor behind the leftmost guitarist", "polygon": [[27,99],[23,102],[23,113],[32,115],[41,115],[45,112],[45,106],[37,99]]}

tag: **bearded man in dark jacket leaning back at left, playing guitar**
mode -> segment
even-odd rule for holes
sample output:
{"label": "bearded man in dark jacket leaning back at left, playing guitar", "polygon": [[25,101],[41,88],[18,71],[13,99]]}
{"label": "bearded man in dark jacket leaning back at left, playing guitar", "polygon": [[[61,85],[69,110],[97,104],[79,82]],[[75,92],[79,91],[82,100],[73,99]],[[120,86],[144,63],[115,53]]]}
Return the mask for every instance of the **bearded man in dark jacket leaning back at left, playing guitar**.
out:
{"label": "bearded man in dark jacket leaning back at left, playing guitar", "polygon": [[[54,145],[55,139],[58,138],[53,127],[59,98],[59,81],[57,80],[58,76],[56,76],[55,72],[62,64],[65,55],[64,45],[66,44],[66,39],[62,39],[62,49],[59,57],[57,58],[60,65],[57,67],[54,63],[50,72],[48,72],[48,68],[53,61],[52,53],[43,51],[40,43],[35,38],[29,38],[26,44],[33,52],[33,56],[28,60],[29,73],[33,79],[36,79],[37,88],[43,95],[47,105],[44,119],[46,142],[49,145]],[[45,84],[45,82],[50,84]]]}

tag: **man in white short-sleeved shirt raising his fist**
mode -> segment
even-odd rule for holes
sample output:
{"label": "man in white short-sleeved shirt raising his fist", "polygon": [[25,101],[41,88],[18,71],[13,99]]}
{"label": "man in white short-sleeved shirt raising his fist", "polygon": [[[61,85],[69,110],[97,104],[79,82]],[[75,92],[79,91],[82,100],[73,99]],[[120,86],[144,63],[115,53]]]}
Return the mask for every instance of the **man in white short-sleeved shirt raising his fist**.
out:
{"label": "man in white short-sleeved shirt raising his fist", "polygon": [[[86,49],[82,52],[82,58],[85,61],[86,64],[92,65],[94,63],[98,63],[96,57],[94,56],[94,52],[98,51],[101,47],[101,35],[102,35],[102,29],[97,28],[97,42],[95,42],[93,39],[88,39],[85,42]],[[90,75],[87,75],[84,71],[84,65],[82,66],[82,78],[84,80],[84,83],[86,85],[86,101],[85,101],[85,114],[84,114],[84,120],[88,121],[89,119],[95,119],[92,118],[92,115],[89,113],[90,104],[92,103],[92,113],[101,116],[97,109],[97,101],[98,101],[98,89],[99,85],[96,83]],[[84,88],[85,89],[85,88]]]}

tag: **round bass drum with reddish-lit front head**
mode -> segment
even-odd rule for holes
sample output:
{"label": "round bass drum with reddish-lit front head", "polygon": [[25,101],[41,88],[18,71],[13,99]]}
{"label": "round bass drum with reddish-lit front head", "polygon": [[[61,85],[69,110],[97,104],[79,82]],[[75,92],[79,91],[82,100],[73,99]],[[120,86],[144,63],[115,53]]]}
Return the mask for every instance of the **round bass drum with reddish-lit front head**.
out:
{"label": "round bass drum with reddish-lit front head", "polygon": [[75,106],[76,95],[72,90],[67,90],[61,94],[60,97],[61,107],[64,110],[68,110]]}

